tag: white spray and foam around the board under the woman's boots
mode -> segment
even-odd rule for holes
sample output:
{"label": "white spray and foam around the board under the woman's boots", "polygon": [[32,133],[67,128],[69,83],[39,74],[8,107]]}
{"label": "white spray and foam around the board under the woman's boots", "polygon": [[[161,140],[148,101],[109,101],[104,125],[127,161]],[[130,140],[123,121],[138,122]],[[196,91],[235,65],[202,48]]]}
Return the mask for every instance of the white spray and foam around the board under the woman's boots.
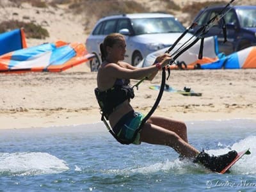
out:
{"label": "white spray and foam around the board under the woman's boots", "polygon": [[[250,148],[249,156],[244,155],[242,159],[237,161],[234,166],[232,166],[231,174],[234,175],[255,175],[256,174],[256,136],[250,136],[245,138],[244,140],[238,141],[234,143],[231,147],[219,148],[216,150],[207,150],[209,154],[220,155],[225,154],[230,149],[237,150],[237,152],[245,150],[246,148]],[[223,145],[219,144],[219,147],[223,147]],[[117,173],[117,174],[133,174],[133,173],[156,173],[156,172],[173,172],[175,174],[184,174],[184,173],[212,173],[211,171],[204,168],[204,166],[200,164],[195,164],[192,161],[179,161],[179,159],[175,159],[174,161],[166,160],[164,162],[148,164],[145,166],[140,166],[137,168],[125,168],[122,170],[105,170],[108,173]]]}

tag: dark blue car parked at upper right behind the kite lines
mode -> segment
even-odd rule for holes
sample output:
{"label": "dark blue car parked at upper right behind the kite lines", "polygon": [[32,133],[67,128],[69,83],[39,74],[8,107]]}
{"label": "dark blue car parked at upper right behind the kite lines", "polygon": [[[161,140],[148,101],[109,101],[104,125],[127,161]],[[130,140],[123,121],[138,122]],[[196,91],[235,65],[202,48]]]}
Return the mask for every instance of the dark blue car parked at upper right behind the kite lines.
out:
{"label": "dark blue car parked at upper right behind the kite lines", "polygon": [[[213,6],[200,10],[194,20],[198,25],[191,33],[195,33],[223,8],[224,6]],[[227,42],[223,44],[223,20],[212,26],[205,36],[217,35],[219,51],[225,54],[256,45],[256,6],[230,6],[228,9],[230,9],[229,12],[223,17],[227,26]]]}

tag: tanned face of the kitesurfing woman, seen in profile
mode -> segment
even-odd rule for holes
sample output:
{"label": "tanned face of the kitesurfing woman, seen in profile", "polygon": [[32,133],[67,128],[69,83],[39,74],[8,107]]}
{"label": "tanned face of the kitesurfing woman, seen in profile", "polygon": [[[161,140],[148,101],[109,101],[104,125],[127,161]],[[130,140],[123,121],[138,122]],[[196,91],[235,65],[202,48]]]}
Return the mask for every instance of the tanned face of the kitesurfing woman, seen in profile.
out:
{"label": "tanned face of the kitesurfing woman, seen in profile", "polygon": [[114,60],[122,61],[125,57],[126,52],[126,43],[124,38],[120,38],[116,44],[112,47],[109,47],[109,54],[108,56],[113,58]]}

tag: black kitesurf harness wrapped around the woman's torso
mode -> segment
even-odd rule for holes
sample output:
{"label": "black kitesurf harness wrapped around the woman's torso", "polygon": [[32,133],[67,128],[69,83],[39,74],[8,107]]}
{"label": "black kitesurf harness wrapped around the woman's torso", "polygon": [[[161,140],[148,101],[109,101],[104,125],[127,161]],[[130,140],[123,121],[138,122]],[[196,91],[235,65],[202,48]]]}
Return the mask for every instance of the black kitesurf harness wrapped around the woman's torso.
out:
{"label": "black kitesurf harness wrapped around the woman's torso", "polygon": [[108,116],[115,111],[115,108],[125,100],[134,98],[134,91],[129,79],[116,79],[113,87],[100,92],[98,88],[94,90],[102,115],[108,120]]}

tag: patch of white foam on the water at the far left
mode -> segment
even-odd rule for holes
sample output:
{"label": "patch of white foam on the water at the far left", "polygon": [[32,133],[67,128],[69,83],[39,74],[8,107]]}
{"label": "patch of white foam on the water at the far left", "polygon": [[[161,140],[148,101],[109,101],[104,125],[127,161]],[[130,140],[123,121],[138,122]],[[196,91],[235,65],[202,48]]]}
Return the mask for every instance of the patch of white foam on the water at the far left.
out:
{"label": "patch of white foam on the water at the far left", "polygon": [[41,175],[68,170],[65,161],[42,152],[0,153],[0,173]]}

